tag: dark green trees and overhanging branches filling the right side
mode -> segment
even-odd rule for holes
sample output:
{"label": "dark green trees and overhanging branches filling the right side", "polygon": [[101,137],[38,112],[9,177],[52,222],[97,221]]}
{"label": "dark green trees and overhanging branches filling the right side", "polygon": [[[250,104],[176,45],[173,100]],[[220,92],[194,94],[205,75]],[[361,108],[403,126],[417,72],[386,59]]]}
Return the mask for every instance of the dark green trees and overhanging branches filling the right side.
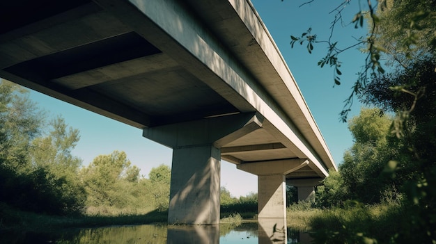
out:
{"label": "dark green trees and overhanging branches filling the right side", "polygon": [[356,29],[368,27],[367,35],[356,38],[350,47],[339,47],[341,38],[335,40],[334,27],[346,24],[342,17],[348,4],[342,1],[332,6],[332,32],[327,40],[319,40],[311,29],[290,40],[291,47],[306,43],[309,54],[316,44],[327,44],[326,56],[318,65],[334,69],[336,86],[341,85],[341,55],[354,47],[364,54],[364,65],[345,99],[341,120],[348,120],[354,98],[368,108],[348,121],[354,145],[345,152],[338,172],[330,172],[318,187],[314,204],[343,209],[387,204],[383,218],[389,227],[384,225],[386,233],[378,236],[375,232],[380,229],[368,231],[365,225],[354,230],[345,225],[325,228],[316,241],[435,243],[435,1],[365,1],[349,23]]}

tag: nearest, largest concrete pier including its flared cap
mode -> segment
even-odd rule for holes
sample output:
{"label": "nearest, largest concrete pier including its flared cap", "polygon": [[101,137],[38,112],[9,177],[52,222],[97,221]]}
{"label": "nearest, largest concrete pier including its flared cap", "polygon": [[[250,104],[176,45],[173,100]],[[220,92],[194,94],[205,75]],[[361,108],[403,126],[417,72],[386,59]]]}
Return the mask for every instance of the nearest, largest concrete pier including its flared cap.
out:
{"label": "nearest, largest concrete pier including its flared cap", "polygon": [[262,125],[241,113],[143,129],[143,136],[173,148],[168,221],[219,224],[220,148]]}

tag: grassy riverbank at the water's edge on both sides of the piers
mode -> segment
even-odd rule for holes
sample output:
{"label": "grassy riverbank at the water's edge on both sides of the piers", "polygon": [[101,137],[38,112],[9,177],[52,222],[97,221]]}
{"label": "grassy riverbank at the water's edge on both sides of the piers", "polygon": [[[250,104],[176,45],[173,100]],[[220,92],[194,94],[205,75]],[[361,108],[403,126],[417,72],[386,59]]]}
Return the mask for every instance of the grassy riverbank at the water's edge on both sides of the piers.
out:
{"label": "grassy riverbank at the water's edge on both sides of the piers", "polygon": [[[297,231],[313,232],[335,238],[368,238],[386,240],[395,234],[395,218],[400,216],[399,206],[387,204],[352,206],[347,209],[315,209],[309,204],[295,204],[287,209],[287,226]],[[0,233],[49,233],[59,229],[81,229],[114,225],[166,225],[166,211],[151,211],[140,215],[77,215],[56,216],[31,213],[0,204]],[[256,213],[221,213],[222,223],[256,220]],[[313,231],[313,230],[316,230]],[[342,237],[341,237],[342,236]]]}

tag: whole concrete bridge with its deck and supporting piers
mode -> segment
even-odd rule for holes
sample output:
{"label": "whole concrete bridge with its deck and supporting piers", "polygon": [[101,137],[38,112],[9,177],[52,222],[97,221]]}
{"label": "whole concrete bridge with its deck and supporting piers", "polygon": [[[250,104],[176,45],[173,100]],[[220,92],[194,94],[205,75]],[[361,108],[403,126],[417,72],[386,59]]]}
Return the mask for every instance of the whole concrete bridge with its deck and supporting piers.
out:
{"label": "whole concrete bridge with its deck and supporting piers", "polygon": [[0,16],[1,77],[173,148],[169,222],[219,222],[221,158],[258,175],[259,218],[286,217],[286,181],[304,199],[336,169],[247,1],[3,1]]}

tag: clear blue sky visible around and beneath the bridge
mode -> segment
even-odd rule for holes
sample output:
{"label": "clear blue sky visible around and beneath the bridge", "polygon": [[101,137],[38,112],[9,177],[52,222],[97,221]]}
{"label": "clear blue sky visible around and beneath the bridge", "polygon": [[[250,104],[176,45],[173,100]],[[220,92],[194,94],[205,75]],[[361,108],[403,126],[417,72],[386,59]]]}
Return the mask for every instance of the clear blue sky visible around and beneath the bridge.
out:
{"label": "clear blue sky visible around and beneath the bridge", "polygon": [[[263,22],[270,31],[281,54],[288,63],[297,84],[302,90],[304,99],[315,118],[327,145],[332,152],[336,165],[341,163],[343,152],[352,145],[352,137],[347,124],[339,121],[343,100],[350,95],[352,83],[356,80],[356,73],[363,65],[364,56],[357,50],[351,50],[343,56],[342,85],[333,88],[333,72],[329,67],[320,69],[318,60],[325,55],[327,47],[316,46],[309,54],[304,46],[290,48],[290,35],[300,35],[311,27],[313,33],[318,34],[320,40],[329,35],[329,26],[334,14],[330,14],[341,1],[318,0],[299,8],[305,1],[274,0],[253,1],[254,6]],[[354,1],[353,1],[354,2]],[[357,13],[356,6],[348,6],[344,22],[350,22],[352,15]],[[339,24],[338,27],[340,27]],[[338,28],[339,44],[350,43],[350,36],[359,38],[365,30],[355,31],[353,26],[345,29]],[[348,39],[347,39],[348,38]],[[141,168],[141,174],[148,177],[151,168],[160,164],[171,166],[172,150],[141,136],[141,130],[127,126],[107,117],[91,113],[84,109],[52,99],[38,92],[31,92],[31,99],[49,112],[49,115],[61,115],[67,124],[79,129],[81,139],[72,152],[83,159],[83,164],[91,163],[95,156],[111,154],[114,150],[124,151],[132,164]],[[357,115],[360,105],[355,103],[351,115]],[[235,165],[226,161],[221,162],[221,186],[230,190],[231,194],[239,197],[250,192],[257,192],[257,177],[247,172],[237,170]]]}

